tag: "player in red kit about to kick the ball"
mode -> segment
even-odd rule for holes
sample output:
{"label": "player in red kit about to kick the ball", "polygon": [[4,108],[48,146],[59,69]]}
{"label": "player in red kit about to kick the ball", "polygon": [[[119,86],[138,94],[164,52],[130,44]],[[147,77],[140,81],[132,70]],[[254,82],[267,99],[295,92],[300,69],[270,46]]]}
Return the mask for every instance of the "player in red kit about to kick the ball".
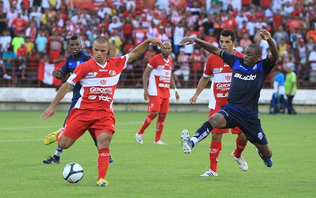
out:
{"label": "player in red kit about to kick the ball", "polygon": [[105,177],[109,166],[110,142],[115,133],[112,104],[120,74],[126,68],[127,62],[143,54],[150,43],[165,47],[159,38],[150,38],[124,56],[107,59],[109,41],[105,37],[96,37],[92,45],[91,59],[77,65],[67,82],[58,90],[50,106],[41,115],[42,120],[51,118],[56,112],[57,105],[73,85],[82,84],[82,97],[70,111],[65,128],[51,141],[57,140],[60,148],[67,149],[89,128],[90,134],[96,138],[99,153],[96,183],[98,186],[108,186]]}

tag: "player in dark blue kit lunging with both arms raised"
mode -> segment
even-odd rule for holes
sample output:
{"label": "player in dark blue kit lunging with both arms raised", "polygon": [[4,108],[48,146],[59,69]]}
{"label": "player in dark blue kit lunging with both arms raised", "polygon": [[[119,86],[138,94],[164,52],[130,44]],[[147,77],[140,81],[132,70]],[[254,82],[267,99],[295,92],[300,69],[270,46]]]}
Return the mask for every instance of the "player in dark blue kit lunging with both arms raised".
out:
{"label": "player in dark blue kit lunging with both arms raised", "polygon": [[262,50],[255,44],[246,47],[245,56],[242,58],[222,51],[218,47],[198,38],[185,38],[180,42],[180,45],[199,44],[210,53],[220,56],[232,69],[227,105],[209,117],[197,129],[191,139],[187,129],[182,131],[181,143],[185,153],[190,153],[191,149],[206,138],[213,128],[239,126],[246,138],[255,145],[265,165],[272,167],[272,152],[258,118],[258,100],[262,84],[273,69],[279,57],[279,52],[269,31],[261,29],[259,36],[266,40],[270,47],[270,53],[263,60],[259,60]]}

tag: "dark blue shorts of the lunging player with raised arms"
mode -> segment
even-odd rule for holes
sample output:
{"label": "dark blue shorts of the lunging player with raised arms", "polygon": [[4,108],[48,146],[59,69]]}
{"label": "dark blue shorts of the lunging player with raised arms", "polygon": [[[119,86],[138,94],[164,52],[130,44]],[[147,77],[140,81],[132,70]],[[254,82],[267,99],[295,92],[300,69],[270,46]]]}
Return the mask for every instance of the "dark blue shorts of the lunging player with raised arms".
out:
{"label": "dark blue shorts of the lunging player with raised arms", "polygon": [[222,114],[226,118],[226,126],[224,128],[234,128],[239,126],[246,135],[247,140],[251,143],[258,143],[261,145],[268,144],[268,140],[261,128],[261,122],[258,115],[246,115],[236,112],[235,110],[224,106],[217,113]]}

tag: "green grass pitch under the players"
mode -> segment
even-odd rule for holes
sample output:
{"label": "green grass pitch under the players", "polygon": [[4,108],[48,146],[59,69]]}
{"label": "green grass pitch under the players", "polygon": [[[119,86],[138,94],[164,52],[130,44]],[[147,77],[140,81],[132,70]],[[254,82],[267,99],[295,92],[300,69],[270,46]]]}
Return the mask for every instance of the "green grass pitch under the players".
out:
{"label": "green grass pitch under the players", "polygon": [[[183,128],[191,134],[207,113],[169,113],[162,140],[153,145],[155,121],[135,140],[146,112],[116,112],[116,133],[111,143],[108,187],[97,187],[97,149],[86,133],[65,150],[60,164],[43,164],[57,144],[43,139],[61,127],[66,112],[42,121],[40,111],[0,112],[0,197],[315,197],[316,115],[260,114],[262,128],[273,151],[273,167],[267,168],[248,143],[243,152],[249,170],[243,172],[230,156],[235,135],[224,135],[218,163],[219,177],[199,177],[209,166],[210,136],[184,154],[179,140]],[[76,162],[84,178],[67,183],[62,170]]]}

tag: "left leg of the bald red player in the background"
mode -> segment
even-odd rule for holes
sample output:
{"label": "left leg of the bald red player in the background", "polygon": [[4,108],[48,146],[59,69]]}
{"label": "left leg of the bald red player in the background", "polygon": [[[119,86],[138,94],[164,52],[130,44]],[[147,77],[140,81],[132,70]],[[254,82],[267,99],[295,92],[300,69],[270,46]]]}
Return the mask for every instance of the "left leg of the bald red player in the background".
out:
{"label": "left leg of the bald red player in the background", "polygon": [[161,104],[160,97],[149,96],[148,112],[150,112],[150,113],[146,116],[141,129],[135,135],[136,141],[139,144],[143,144],[143,134],[144,134],[145,129],[149,126],[151,121],[159,114],[160,104]]}

